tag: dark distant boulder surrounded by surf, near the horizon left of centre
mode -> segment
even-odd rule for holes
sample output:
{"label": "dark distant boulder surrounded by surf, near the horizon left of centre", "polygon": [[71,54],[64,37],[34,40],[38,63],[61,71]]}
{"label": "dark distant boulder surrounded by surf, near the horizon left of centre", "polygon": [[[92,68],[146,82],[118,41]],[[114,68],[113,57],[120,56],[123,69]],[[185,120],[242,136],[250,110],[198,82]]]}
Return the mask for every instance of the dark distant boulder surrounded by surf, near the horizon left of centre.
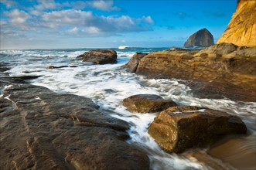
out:
{"label": "dark distant boulder surrounded by surf, near the horizon left of centre", "polygon": [[118,55],[113,49],[92,49],[77,56],[77,58],[83,59],[83,62],[92,62],[95,64],[116,63],[117,57]]}

